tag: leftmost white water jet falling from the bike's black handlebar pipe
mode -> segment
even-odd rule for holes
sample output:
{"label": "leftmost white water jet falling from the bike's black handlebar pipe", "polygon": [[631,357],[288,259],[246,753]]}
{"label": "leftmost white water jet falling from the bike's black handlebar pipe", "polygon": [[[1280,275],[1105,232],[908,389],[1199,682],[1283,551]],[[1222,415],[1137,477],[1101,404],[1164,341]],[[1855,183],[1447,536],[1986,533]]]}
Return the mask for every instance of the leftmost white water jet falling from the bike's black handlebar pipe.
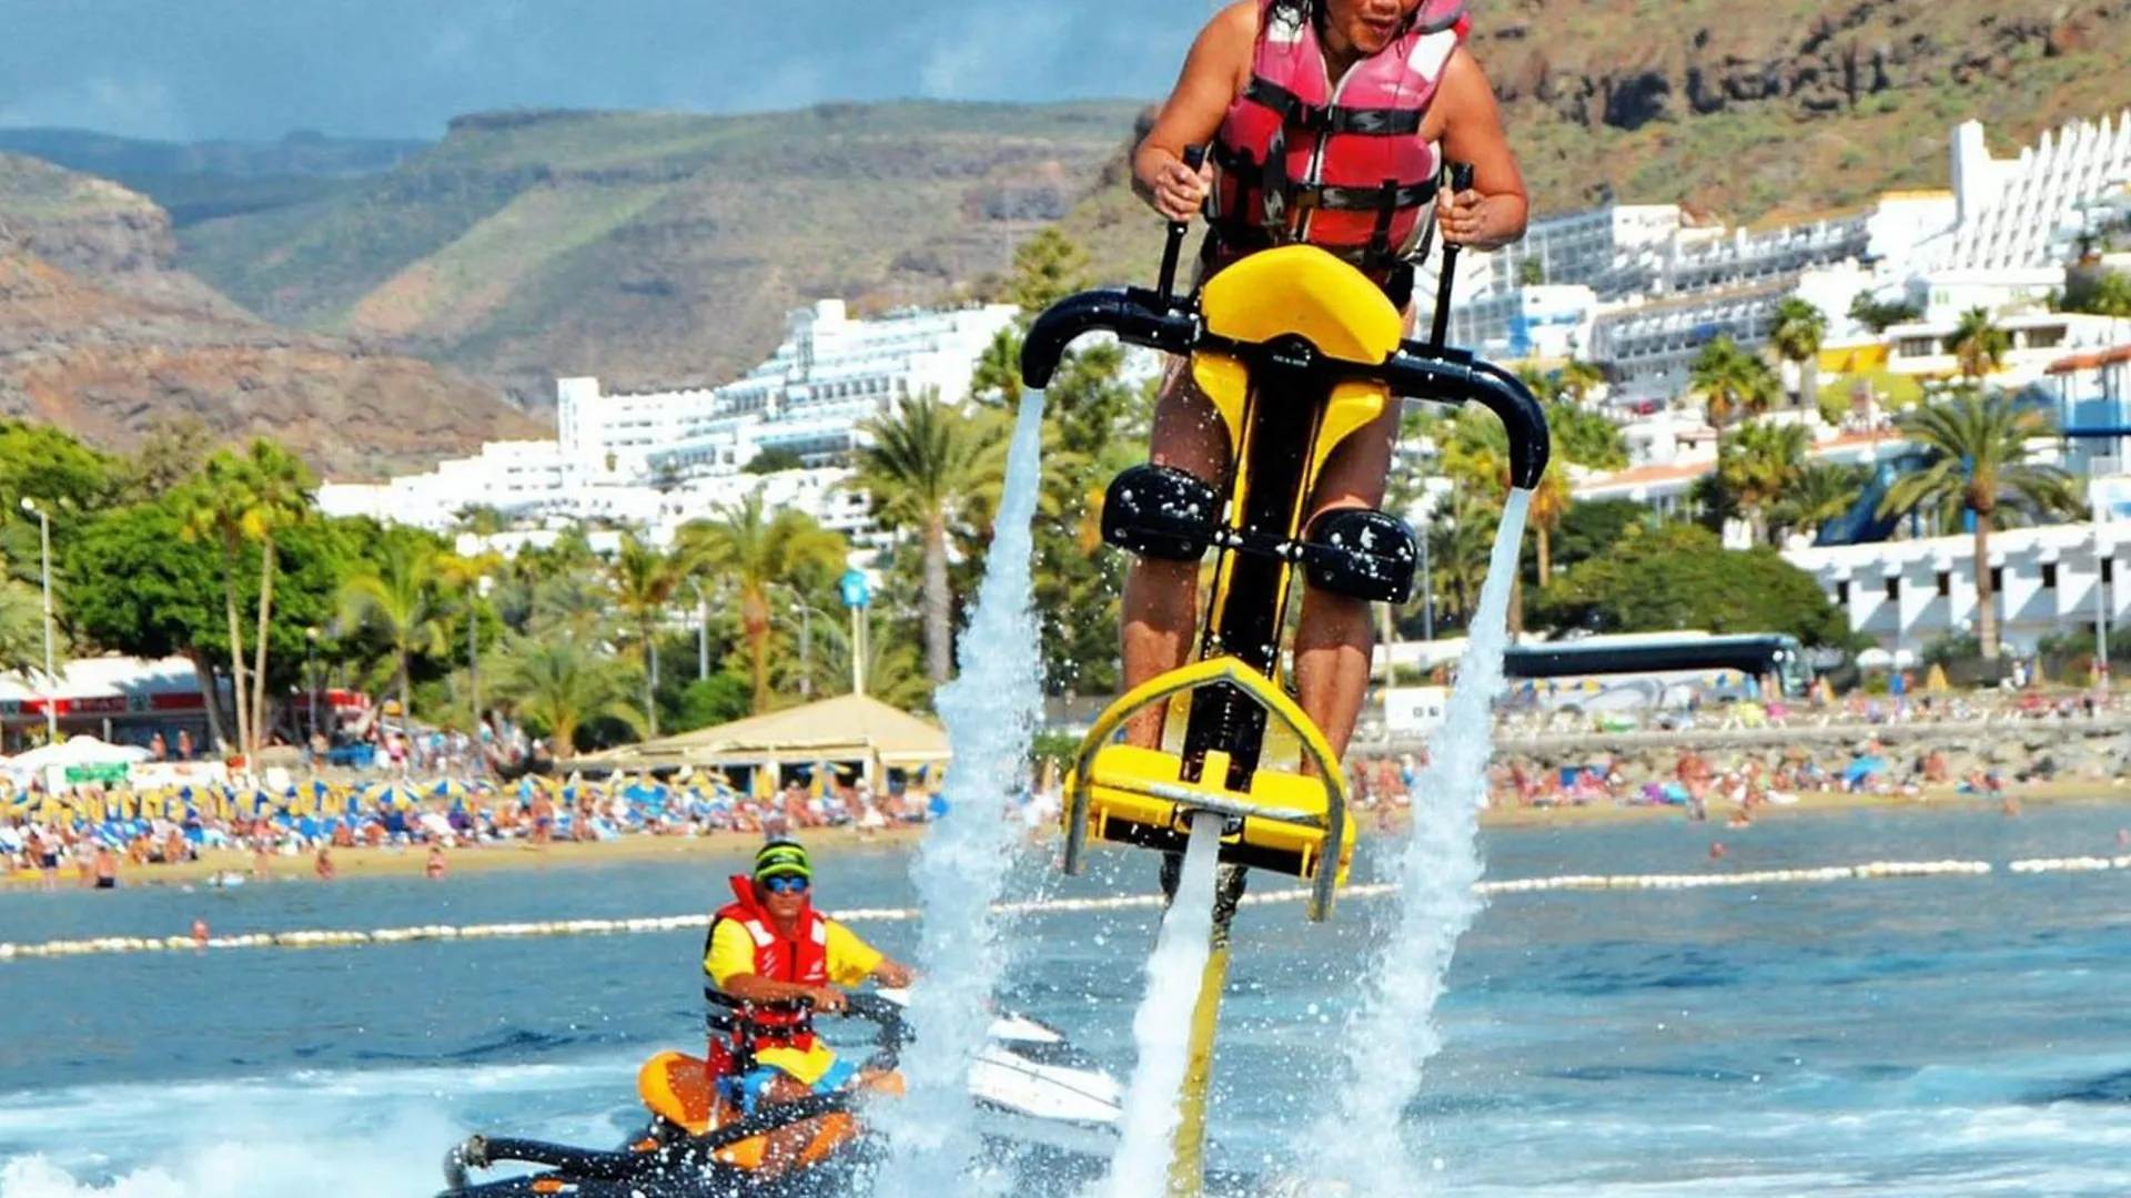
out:
{"label": "leftmost white water jet falling from the bike's black handlebar pipe", "polygon": [[927,831],[910,863],[923,912],[914,961],[921,976],[910,991],[916,1038],[901,1059],[908,1098],[874,1115],[889,1136],[876,1183],[882,1198],[965,1194],[963,1170],[980,1145],[967,1074],[1004,972],[991,904],[1014,859],[1021,825],[1008,816],[1008,804],[1027,782],[1029,738],[1042,708],[1042,659],[1029,612],[1042,418],[1044,392],[1023,392],[985,584],[957,654],[959,676],[938,695],[955,763],[946,776],[946,819]]}

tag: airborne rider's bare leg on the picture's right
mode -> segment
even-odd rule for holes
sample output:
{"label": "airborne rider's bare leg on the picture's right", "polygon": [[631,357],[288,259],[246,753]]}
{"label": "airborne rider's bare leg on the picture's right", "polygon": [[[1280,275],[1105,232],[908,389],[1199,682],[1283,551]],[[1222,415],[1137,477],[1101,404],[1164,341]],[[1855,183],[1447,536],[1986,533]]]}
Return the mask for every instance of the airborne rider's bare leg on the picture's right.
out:
{"label": "airborne rider's bare leg on the picture's right", "polygon": [[[1392,473],[1392,441],[1398,437],[1398,403],[1362,428],[1325,460],[1317,475],[1311,520],[1338,507],[1383,505]],[[1368,695],[1370,627],[1368,603],[1306,586],[1302,622],[1296,629],[1296,697],[1325,733],[1332,759],[1347,755],[1362,699]],[[1304,763],[1306,774],[1315,770]]]}

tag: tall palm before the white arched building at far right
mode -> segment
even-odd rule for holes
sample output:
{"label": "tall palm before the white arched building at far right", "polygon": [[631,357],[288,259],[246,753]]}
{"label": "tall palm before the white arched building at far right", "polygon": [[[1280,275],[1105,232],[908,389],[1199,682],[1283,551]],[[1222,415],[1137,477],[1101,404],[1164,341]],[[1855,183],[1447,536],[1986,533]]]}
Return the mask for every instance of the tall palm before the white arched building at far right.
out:
{"label": "tall palm before the white arched building at far right", "polygon": [[1937,509],[1941,522],[1967,512],[1975,520],[1975,629],[1984,661],[1997,661],[1997,603],[1990,584],[1990,527],[2007,503],[2027,505],[2037,514],[2073,514],[2080,497],[2071,475],[2037,463],[2029,446],[2056,435],[2056,422],[2037,409],[2020,409],[2005,396],[1984,399],[1965,388],[1948,403],[1905,411],[1901,435],[1924,448],[1929,463],[1894,480],[1882,516],[1899,516],[1918,507]]}

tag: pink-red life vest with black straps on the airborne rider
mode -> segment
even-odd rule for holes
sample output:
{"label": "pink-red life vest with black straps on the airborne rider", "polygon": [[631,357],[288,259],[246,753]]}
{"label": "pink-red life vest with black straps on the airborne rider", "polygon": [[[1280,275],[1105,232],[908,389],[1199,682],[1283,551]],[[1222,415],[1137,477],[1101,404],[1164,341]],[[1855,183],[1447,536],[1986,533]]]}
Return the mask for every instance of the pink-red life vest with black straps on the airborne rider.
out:
{"label": "pink-red life vest with black straps on the airborne rider", "polygon": [[1443,160],[1421,122],[1473,21],[1464,0],[1424,0],[1404,34],[1334,85],[1313,9],[1259,0],[1251,83],[1213,143],[1208,258],[1302,241],[1383,281],[1432,228]]}

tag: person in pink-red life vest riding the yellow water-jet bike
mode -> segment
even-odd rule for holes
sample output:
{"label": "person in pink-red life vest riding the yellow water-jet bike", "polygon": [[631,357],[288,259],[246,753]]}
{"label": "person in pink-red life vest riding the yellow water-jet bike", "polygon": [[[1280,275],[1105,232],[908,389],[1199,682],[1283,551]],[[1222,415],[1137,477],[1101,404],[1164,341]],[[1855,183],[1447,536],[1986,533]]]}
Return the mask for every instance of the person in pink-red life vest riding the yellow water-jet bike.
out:
{"label": "person in pink-red life vest riding the yellow water-jet bike", "polygon": [[[1283,243],[1311,243],[1362,269],[1413,322],[1413,264],[1426,205],[1455,245],[1496,249],[1524,237],[1526,194],[1494,90],[1464,49],[1464,0],[1242,0],[1200,32],[1176,90],[1134,158],[1155,211],[1189,222],[1206,209],[1200,281]],[[1332,83],[1336,81],[1336,83]],[[1213,143],[1193,171],[1185,149]],[[1473,188],[1436,194],[1443,162],[1473,166]],[[1208,205],[1213,196],[1213,205]],[[1340,443],[1317,477],[1308,520],[1379,507],[1400,405]],[[1227,433],[1213,405],[1172,369],[1155,405],[1155,465],[1225,488]],[[1195,561],[1134,556],[1123,595],[1125,689],[1183,665],[1198,622]],[[1368,603],[1319,588],[1296,631],[1302,710],[1345,755],[1368,691]],[[1159,748],[1164,710],[1125,740]],[[1304,763],[1306,765],[1306,763]]]}

